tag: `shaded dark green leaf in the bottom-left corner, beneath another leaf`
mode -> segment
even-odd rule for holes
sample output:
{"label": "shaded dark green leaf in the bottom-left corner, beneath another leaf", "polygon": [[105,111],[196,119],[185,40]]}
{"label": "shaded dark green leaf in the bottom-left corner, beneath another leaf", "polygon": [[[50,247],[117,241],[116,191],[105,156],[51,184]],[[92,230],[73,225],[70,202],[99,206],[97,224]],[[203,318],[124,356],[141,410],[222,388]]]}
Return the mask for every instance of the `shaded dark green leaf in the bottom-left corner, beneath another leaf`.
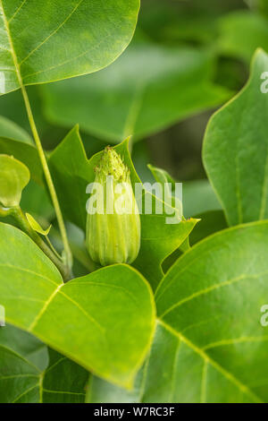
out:
{"label": "shaded dark green leaf in the bottom-left corner, beneath another leaf", "polygon": [[12,325],[0,330],[2,403],[77,403],[85,400],[88,372]]}

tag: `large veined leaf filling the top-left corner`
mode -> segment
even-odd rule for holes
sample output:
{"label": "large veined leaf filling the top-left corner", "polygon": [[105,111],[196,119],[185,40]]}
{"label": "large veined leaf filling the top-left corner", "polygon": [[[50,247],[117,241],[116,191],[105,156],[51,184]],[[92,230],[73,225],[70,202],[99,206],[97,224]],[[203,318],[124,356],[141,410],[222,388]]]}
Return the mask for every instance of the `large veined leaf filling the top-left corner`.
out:
{"label": "large veined leaf filling the top-left corner", "polygon": [[139,0],[0,0],[2,93],[112,63],[130,42],[138,8]]}

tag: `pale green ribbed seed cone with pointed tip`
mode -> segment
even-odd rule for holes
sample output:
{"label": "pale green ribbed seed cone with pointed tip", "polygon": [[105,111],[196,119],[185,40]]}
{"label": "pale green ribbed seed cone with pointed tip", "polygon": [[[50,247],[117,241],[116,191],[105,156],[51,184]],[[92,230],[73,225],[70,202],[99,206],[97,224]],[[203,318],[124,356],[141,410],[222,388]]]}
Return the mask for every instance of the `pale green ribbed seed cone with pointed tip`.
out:
{"label": "pale green ribbed seed cone with pointed tip", "polygon": [[94,262],[131,263],[140,247],[138,206],[130,170],[111,147],[105,148],[88,202],[87,247]]}

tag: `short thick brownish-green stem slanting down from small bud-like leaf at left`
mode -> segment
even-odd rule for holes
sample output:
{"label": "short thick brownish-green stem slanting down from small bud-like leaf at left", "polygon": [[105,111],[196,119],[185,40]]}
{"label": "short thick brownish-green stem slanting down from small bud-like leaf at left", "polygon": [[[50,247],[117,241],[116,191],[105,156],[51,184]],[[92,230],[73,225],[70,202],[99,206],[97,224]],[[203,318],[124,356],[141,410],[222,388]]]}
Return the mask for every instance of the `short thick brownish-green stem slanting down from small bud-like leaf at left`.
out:
{"label": "short thick brownish-green stem slanting down from small bud-like leaf at left", "polygon": [[34,231],[28,222],[28,219],[21,211],[20,206],[14,206],[10,208],[9,215],[13,216],[13,218],[17,221],[19,227],[22,231],[28,234],[31,239],[38,245],[38,247],[46,254],[49,259],[54,262],[54,265],[58,268],[58,270],[62,273],[63,279],[68,280],[70,278],[70,271],[66,267],[65,264],[53,253],[53,251],[46,245],[46,243],[42,240],[38,233]]}

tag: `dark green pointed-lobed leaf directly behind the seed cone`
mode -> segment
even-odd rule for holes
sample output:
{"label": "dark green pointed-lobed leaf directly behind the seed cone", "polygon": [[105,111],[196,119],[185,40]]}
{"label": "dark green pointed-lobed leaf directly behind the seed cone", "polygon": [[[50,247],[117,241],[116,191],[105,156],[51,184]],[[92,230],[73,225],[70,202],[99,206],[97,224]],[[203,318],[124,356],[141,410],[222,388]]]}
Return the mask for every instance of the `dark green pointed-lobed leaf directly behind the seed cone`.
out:
{"label": "dark green pointed-lobed leaf directly behind the seed cone", "polygon": [[[131,183],[140,183],[133,167],[128,141],[115,146],[126,165],[130,168]],[[87,159],[80,140],[78,127],[74,127],[62,143],[54,150],[49,159],[59,200],[66,219],[85,231],[86,188],[94,182],[94,168],[98,164],[100,153]],[[147,193],[152,196],[152,194]],[[152,197],[152,209],[155,209],[155,197]],[[174,210],[175,211],[175,210]],[[197,219],[183,220],[178,224],[167,224],[166,215],[141,214],[141,248],[138,259],[132,263],[134,267],[149,280],[155,288],[163,277],[161,262],[172,253],[188,237],[195,227]]]}

